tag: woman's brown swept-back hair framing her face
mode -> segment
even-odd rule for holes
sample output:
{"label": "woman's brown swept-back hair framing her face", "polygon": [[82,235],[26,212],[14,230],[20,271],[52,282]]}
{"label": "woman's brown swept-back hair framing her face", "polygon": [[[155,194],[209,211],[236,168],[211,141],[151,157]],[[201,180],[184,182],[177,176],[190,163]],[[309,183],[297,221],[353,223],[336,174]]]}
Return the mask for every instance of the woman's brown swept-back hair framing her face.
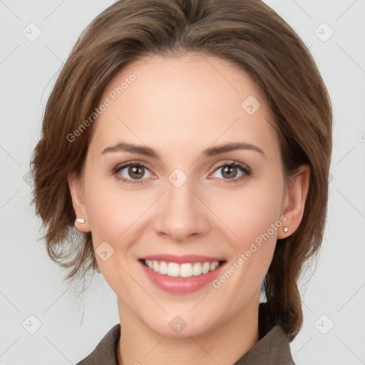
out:
{"label": "woman's brown swept-back hair framing her face", "polygon": [[98,107],[121,68],[144,56],[184,52],[217,56],[248,73],[274,115],[284,176],[289,179],[302,164],[311,170],[302,222],[279,240],[264,279],[269,307],[292,340],[303,322],[297,280],[304,262],[315,257],[326,222],[332,112],[307,47],[260,0],[120,0],[81,34],[48,98],[31,162],[48,255],[70,269],[66,279],[98,272],[91,233],[81,235],[73,226],[67,181],[69,173],[81,172],[91,127],[76,143],[67,136]]}

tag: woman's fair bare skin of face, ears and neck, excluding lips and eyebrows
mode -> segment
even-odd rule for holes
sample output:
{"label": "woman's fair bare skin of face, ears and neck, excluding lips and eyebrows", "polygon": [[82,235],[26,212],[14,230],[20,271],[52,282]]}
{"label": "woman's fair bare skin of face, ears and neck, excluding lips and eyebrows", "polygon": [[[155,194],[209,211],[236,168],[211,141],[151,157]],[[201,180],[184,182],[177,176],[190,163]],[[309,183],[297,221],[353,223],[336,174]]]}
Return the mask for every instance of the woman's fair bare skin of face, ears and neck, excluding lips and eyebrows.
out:
{"label": "woman's fair bare skin of face, ears and neck, excluding lips and eyebrows", "polygon": [[[301,166],[285,185],[264,96],[229,62],[192,53],[141,59],[110,81],[101,100],[135,68],[141,75],[92,126],[81,178],[68,177],[76,216],[86,220],[76,222],[76,228],[92,232],[94,248],[108,242],[114,250],[106,261],[96,259],[118,297],[118,362],[234,364],[259,340],[262,280],[277,239],[291,235],[302,220],[309,168]],[[261,104],[252,115],[241,106],[248,96]],[[121,140],[153,148],[161,158],[125,151],[102,154]],[[264,155],[242,149],[202,156],[205,148],[232,142],[256,145]],[[113,174],[131,161],[146,168],[134,175],[128,168]],[[225,166],[234,161],[248,166],[250,175],[240,168],[225,174]],[[187,177],[180,187],[168,179],[176,168]],[[138,183],[123,183],[117,175]],[[217,289],[207,284],[190,294],[165,292],[138,262],[146,255],[193,253],[225,257],[230,267],[280,216],[287,218],[289,232],[283,232],[284,225],[274,230]],[[176,315],[186,322],[178,334],[169,326]]]}

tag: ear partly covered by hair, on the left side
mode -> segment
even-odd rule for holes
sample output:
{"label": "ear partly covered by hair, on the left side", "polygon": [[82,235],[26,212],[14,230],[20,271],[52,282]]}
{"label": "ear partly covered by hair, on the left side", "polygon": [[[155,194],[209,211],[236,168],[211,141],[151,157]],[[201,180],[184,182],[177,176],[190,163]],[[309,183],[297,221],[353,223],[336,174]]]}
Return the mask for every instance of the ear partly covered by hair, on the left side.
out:
{"label": "ear partly covered by hair, on the left side", "polygon": [[73,210],[75,210],[76,218],[83,218],[84,223],[75,220],[76,230],[80,232],[90,232],[90,224],[86,213],[86,205],[83,194],[83,179],[71,173],[67,177],[68,187],[70,188]]}

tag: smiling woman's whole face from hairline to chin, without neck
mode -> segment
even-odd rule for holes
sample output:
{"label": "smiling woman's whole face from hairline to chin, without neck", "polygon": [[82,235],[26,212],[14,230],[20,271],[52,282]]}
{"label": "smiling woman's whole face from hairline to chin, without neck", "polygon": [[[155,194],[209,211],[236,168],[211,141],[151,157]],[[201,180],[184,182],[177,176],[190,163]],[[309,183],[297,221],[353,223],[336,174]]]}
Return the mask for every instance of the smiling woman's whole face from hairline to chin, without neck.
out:
{"label": "smiling woman's whole face from hairline to chin, without neck", "polygon": [[71,192],[119,308],[168,336],[254,313],[289,201],[259,88],[220,58],[154,56],[106,98]]}

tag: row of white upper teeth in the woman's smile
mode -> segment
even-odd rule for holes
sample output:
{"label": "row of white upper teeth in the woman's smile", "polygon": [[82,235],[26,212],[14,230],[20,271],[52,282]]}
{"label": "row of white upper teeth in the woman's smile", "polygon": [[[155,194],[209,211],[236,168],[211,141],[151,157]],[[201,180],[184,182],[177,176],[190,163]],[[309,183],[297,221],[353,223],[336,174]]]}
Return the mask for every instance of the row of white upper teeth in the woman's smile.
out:
{"label": "row of white upper teeth in the woman's smile", "polygon": [[160,274],[167,274],[169,277],[192,277],[207,274],[220,266],[219,261],[215,262],[195,262],[194,264],[177,264],[176,262],[165,262],[145,259],[145,264],[150,269]]}

